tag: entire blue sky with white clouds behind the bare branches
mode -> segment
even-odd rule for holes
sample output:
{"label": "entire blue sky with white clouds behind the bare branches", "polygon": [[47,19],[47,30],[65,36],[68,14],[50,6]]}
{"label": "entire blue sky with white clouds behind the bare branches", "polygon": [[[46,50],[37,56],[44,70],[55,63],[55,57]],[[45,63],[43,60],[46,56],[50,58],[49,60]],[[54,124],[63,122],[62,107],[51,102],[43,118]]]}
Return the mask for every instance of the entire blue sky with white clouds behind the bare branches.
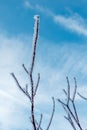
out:
{"label": "entire blue sky with white clouds behind the bare branches", "polygon": [[[34,15],[40,15],[34,79],[41,74],[35,114],[43,113],[45,129],[52,111],[51,97],[64,99],[63,88],[73,77],[78,92],[87,97],[87,1],[86,0],[0,0],[0,130],[31,128],[30,103],[16,87],[14,72],[22,86],[28,82],[21,65],[31,62]],[[79,118],[86,129],[87,102],[76,97]],[[84,107],[82,107],[84,106]],[[56,101],[50,130],[72,130],[65,113]]]}

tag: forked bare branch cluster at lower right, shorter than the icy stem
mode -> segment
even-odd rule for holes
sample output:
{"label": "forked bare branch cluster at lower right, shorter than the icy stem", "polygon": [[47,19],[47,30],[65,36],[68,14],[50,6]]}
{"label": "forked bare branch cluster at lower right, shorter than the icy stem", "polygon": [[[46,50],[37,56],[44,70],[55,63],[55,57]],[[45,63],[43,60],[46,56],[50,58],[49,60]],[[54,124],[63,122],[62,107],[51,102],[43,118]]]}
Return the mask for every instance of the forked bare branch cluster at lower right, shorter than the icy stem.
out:
{"label": "forked bare branch cluster at lower right, shorter than the icy stem", "polygon": [[[83,130],[81,127],[81,124],[79,122],[79,118],[78,118],[78,114],[77,114],[77,110],[76,110],[76,106],[75,106],[75,97],[76,97],[76,91],[77,91],[76,78],[74,78],[75,88],[74,88],[74,92],[73,92],[73,97],[71,97],[71,94],[70,94],[70,83],[69,83],[68,77],[66,77],[66,79],[67,79],[68,87],[67,87],[67,91],[65,89],[63,89],[63,92],[65,93],[65,96],[67,97],[67,101],[65,103],[65,102],[61,101],[60,99],[58,99],[58,102],[61,103],[61,105],[67,115],[64,117],[66,120],[69,121],[69,123],[71,124],[73,129],[77,130],[76,129],[77,128],[76,125],[77,125],[79,130]],[[72,105],[72,107],[71,107],[71,105]]]}

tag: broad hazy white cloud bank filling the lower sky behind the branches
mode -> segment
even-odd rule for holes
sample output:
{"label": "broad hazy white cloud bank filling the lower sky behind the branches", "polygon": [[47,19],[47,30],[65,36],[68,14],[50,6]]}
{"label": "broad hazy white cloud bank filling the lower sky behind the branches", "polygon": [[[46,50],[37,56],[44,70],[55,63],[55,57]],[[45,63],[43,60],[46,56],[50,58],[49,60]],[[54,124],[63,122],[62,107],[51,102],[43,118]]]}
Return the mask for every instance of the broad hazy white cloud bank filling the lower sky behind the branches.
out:
{"label": "broad hazy white cloud bank filling the lower sky behind the branches", "polygon": [[[26,117],[29,116],[26,115],[26,109],[28,111],[30,108],[28,105],[30,104],[28,104],[26,97],[21,94],[19,89],[16,87],[14,80],[9,74],[13,71],[16,73],[21,84],[23,86],[26,84],[27,79],[25,78],[24,71],[22,71],[21,64],[23,61],[27,65],[29,64],[29,55],[31,56],[30,53],[32,48],[32,44],[30,43],[32,42],[30,40],[31,38],[28,40],[26,40],[26,38],[21,38],[22,37],[20,36],[8,37],[4,34],[0,35],[0,124],[3,130],[11,130],[13,127],[15,129],[21,127],[25,129],[29,123],[29,120],[26,119]],[[78,48],[78,45],[73,43],[63,43],[62,45],[51,43],[49,48],[50,43],[46,41],[40,41],[40,43],[41,44],[38,44],[40,50],[37,52],[34,76],[36,80],[36,74],[38,71],[41,74],[41,82],[36,96],[36,114],[38,115],[38,113],[43,113],[44,110],[45,116],[49,109],[49,113],[46,116],[47,119],[49,119],[52,107],[51,97],[55,96],[55,98],[64,99],[62,88],[66,88],[67,85],[65,76],[69,75],[71,79],[71,77],[77,77],[77,75],[81,73],[78,82],[80,82],[82,76],[87,76],[87,71],[85,71],[86,69],[84,70],[87,65],[86,46],[84,47],[79,45]],[[27,59],[29,59],[28,62]],[[70,82],[71,86],[73,86],[73,79],[70,80]],[[81,80],[81,82],[83,81]],[[83,92],[83,94],[86,95],[85,89],[86,87],[83,87],[83,89],[79,88],[78,91]],[[81,98],[77,98],[77,100],[81,101]],[[60,111],[60,115],[58,111]],[[56,122],[60,122],[62,116],[62,112],[59,108],[58,111],[56,113]],[[45,122],[44,119],[43,122]],[[26,122],[26,124],[23,122]],[[52,124],[51,129],[53,126],[54,123]],[[57,129],[64,128],[61,125],[57,126],[57,124],[55,127]]]}

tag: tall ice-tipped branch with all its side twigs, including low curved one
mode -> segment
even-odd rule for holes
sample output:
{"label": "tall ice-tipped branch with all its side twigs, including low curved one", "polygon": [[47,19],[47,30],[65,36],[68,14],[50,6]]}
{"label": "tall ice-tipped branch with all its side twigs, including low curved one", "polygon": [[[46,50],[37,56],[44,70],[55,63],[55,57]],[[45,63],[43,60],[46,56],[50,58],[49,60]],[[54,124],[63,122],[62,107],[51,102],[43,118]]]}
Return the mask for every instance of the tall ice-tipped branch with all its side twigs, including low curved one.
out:
{"label": "tall ice-tipped branch with all its side twigs, including low curved one", "polygon": [[[37,47],[38,31],[39,31],[39,16],[35,15],[34,19],[35,19],[35,25],[34,25],[34,35],[33,35],[33,51],[32,51],[30,70],[28,70],[24,64],[22,65],[24,71],[26,72],[26,74],[28,75],[29,80],[30,80],[30,87],[31,87],[30,93],[28,91],[28,84],[26,84],[25,89],[23,89],[23,87],[20,85],[18,79],[16,78],[15,74],[11,73],[11,75],[14,78],[18,88],[28,97],[28,99],[31,102],[30,121],[31,121],[31,123],[33,125],[33,130],[43,130],[42,127],[41,127],[43,115],[41,114],[40,121],[37,122],[37,120],[35,119],[35,109],[34,109],[35,108],[35,104],[34,104],[35,95],[37,93],[37,89],[38,89],[39,82],[40,82],[40,73],[38,73],[38,78],[37,78],[36,85],[34,84],[34,79],[33,79],[33,69],[34,69],[34,64],[35,64],[36,47]],[[52,100],[53,100],[53,111],[52,111],[52,114],[51,114],[51,117],[50,117],[50,120],[49,120],[49,123],[48,123],[48,126],[47,126],[46,130],[49,130],[50,125],[52,123],[53,116],[54,116],[55,101],[54,101],[54,98],[52,98]]]}

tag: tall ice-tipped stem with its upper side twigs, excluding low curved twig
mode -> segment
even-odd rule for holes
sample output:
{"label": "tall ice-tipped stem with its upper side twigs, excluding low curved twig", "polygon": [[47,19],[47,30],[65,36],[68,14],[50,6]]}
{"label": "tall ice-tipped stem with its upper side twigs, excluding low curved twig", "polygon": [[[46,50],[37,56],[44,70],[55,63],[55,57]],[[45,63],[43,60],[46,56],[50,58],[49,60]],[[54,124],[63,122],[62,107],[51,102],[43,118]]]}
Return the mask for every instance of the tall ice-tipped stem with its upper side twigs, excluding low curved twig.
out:
{"label": "tall ice-tipped stem with its upper side twigs, excluding low curved twig", "polygon": [[34,68],[35,56],[36,56],[36,44],[37,44],[37,40],[38,40],[39,16],[35,15],[34,19],[35,19],[35,25],[34,25],[34,35],[33,35],[33,52],[32,52],[30,71],[28,71],[28,69],[25,67],[24,64],[22,65],[23,69],[25,70],[27,75],[30,77],[29,78],[30,79],[30,83],[31,83],[31,92],[30,92],[30,94],[28,92],[28,85],[26,85],[25,89],[23,89],[23,87],[21,87],[18,79],[16,78],[15,74],[11,73],[11,75],[14,78],[18,88],[29,98],[29,100],[31,102],[31,120],[32,120],[32,125],[33,125],[33,129],[37,130],[36,122],[35,122],[35,114],[34,114],[34,97],[36,95],[37,88],[39,86],[40,74],[38,73],[38,80],[37,80],[37,84],[36,84],[35,88],[34,88],[34,81],[33,81],[32,74],[33,74],[33,68]]}

